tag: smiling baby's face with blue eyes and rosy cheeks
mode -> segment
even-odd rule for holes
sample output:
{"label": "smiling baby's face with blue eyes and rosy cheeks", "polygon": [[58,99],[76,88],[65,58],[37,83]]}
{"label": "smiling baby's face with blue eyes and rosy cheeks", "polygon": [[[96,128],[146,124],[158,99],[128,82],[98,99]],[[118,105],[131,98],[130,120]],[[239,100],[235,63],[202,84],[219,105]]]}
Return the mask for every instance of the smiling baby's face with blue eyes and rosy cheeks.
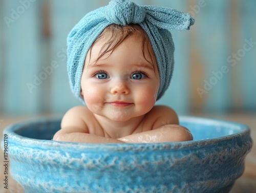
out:
{"label": "smiling baby's face with blue eyes and rosy cheeks", "polygon": [[94,114],[126,121],[143,116],[153,108],[159,90],[159,72],[147,48],[145,59],[142,42],[135,36],[95,62],[108,40],[101,39],[93,46],[91,58],[86,57],[81,95]]}

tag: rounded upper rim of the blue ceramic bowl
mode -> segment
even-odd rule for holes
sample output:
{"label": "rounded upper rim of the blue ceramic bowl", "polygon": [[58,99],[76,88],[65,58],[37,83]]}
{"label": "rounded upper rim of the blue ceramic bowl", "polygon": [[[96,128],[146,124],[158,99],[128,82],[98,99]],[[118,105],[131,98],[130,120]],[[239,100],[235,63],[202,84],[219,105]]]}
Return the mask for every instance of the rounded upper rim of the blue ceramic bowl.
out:
{"label": "rounded upper rim of the blue ceramic bowl", "polygon": [[[161,143],[77,143],[77,142],[62,142],[62,141],[53,141],[53,140],[42,140],[42,139],[33,139],[18,135],[15,133],[20,127],[24,127],[29,124],[35,123],[46,123],[46,122],[54,122],[60,121],[60,117],[51,117],[51,118],[36,118],[36,119],[29,119],[25,121],[20,121],[17,123],[13,123],[8,125],[4,132],[4,134],[8,135],[8,140],[10,142],[14,142],[16,145],[23,146],[23,147],[31,147],[31,146],[40,146],[41,149],[59,149],[63,148],[63,150],[67,149],[77,149],[77,151],[82,151],[84,149],[88,149],[88,151],[95,151],[97,152],[102,149],[102,151],[110,151],[110,152],[117,152],[117,151],[141,151],[144,149],[191,149],[193,148],[204,148],[205,146],[216,145],[218,142],[225,142],[230,139],[239,138],[242,136],[250,136],[250,128],[246,124],[233,122],[233,121],[226,121],[221,119],[212,119],[212,118],[204,118],[204,117],[196,117],[196,116],[179,116],[180,122],[191,122],[191,123],[204,123],[204,125],[219,125],[220,123],[223,124],[225,127],[232,126],[237,127],[238,132],[220,136],[215,138],[207,138],[207,139],[198,139],[192,141],[182,141],[182,142],[161,142]],[[10,140],[11,139],[11,140]],[[45,145],[42,145],[44,143]]]}

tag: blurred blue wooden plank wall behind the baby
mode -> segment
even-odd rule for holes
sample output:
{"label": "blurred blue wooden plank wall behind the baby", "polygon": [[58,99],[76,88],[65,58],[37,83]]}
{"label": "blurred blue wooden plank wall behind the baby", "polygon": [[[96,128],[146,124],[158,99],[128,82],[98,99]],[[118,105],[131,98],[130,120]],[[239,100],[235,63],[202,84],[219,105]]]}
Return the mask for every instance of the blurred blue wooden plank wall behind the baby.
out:
{"label": "blurred blue wooden plank wall behind the baby", "polygon": [[[70,91],[66,37],[109,1],[0,0],[0,114],[63,114],[81,105]],[[137,0],[188,12],[196,23],[173,32],[175,70],[157,102],[179,115],[256,112],[256,1]]]}

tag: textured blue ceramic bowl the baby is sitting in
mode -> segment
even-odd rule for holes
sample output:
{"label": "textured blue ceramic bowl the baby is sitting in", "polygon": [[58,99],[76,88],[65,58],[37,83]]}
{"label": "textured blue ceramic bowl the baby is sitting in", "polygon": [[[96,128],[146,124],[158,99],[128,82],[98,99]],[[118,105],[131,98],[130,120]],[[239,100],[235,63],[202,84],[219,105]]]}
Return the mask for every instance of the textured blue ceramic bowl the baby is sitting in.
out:
{"label": "textured blue ceramic bowl the baby is sitting in", "polygon": [[244,171],[252,146],[249,128],[196,117],[180,117],[180,124],[194,141],[51,141],[59,118],[14,124],[4,134],[12,177],[26,192],[228,192]]}

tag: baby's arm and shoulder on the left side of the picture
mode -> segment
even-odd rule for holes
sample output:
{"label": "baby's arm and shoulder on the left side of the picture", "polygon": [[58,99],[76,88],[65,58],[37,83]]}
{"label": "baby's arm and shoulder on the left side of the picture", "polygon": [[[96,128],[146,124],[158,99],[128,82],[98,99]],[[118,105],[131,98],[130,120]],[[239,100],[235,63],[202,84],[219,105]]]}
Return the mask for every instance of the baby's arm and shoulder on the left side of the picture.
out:
{"label": "baby's arm and shoulder on the left side of the picture", "polygon": [[84,117],[90,120],[90,115],[84,111],[83,106],[69,110],[62,118],[61,129],[54,135],[53,140],[78,143],[125,143],[117,139],[90,134]]}

